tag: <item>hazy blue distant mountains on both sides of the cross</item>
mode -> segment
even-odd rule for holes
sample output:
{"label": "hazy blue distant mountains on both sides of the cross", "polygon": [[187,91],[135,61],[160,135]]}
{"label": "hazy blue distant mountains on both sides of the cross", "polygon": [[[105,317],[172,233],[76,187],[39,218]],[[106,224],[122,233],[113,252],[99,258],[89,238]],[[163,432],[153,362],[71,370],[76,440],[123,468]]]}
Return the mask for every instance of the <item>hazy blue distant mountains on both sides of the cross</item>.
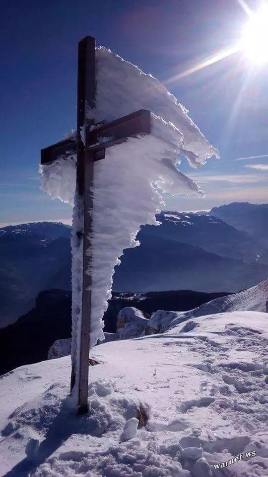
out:
{"label": "hazy blue distant mountains on both sides of the cross", "polygon": [[[213,215],[212,215],[213,214]],[[234,203],[157,216],[115,268],[115,292],[237,292],[268,277],[268,204]],[[224,220],[223,220],[224,219]],[[71,289],[70,227],[50,222],[0,229],[0,327],[31,310],[42,290]]]}

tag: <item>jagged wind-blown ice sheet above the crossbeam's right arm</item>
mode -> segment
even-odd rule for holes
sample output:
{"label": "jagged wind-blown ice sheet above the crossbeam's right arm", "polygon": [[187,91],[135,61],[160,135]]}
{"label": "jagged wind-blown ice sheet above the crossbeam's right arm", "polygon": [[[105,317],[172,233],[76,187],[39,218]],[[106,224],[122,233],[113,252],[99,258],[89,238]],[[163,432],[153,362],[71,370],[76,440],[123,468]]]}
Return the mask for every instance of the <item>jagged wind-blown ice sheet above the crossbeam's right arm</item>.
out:
{"label": "jagged wind-blown ice sheet above the crossbeam's right arm", "polygon": [[88,117],[96,122],[149,109],[181,131],[183,144],[178,138],[178,147],[192,165],[200,166],[211,156],[218,156],[187,115],[187,109],[158,79],[104,47],[96,49],[96,80],[96,109],[88,112]]}

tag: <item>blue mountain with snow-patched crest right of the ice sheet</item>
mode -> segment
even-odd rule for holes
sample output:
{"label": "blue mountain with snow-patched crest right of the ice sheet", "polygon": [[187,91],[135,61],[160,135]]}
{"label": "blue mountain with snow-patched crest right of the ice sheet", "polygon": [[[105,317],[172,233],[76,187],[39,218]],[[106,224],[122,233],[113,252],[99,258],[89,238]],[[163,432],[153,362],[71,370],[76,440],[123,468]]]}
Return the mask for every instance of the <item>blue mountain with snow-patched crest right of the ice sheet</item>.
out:
{"label": "blue mountain with snow-patched crest right of the ice sheet", "polygon": [[141,227],[139,247],[124,250],[115,291],[236,292],[268,277],[262,231],[252,236],[210,213],[166,211],[157,219],[160,226]]}

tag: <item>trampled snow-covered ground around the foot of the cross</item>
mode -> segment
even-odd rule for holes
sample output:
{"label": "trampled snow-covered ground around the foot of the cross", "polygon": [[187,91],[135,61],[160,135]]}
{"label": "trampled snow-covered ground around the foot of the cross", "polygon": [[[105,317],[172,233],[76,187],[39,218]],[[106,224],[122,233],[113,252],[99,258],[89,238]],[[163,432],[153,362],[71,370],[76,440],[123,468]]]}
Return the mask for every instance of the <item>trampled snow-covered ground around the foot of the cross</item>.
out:
{"label": "trampled snow-covered ground around the foot of the cross", "polygon": [[69,356],[6,374],[1,476],[267,476],[267,318],[210,315],[95,347],[86,416],[67,397]]}

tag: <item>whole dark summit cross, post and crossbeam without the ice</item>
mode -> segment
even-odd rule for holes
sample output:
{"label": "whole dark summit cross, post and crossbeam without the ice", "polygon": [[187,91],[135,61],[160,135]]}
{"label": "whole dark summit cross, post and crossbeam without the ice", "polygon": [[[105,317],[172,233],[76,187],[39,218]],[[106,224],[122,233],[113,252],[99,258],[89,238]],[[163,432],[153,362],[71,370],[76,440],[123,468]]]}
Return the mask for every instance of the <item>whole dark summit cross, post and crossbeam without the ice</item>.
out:
{"label": "whole dark summit cross, post and crossbeam without the ice", "polygon": [[[88,119],[86,112],[95,107],[95,38],[86,36],[78,44],[78,78],[77,78],[77,134],[76,140],[66,139],[53,146],[41,150],[41,164],[50,164],[59,157],[77,155],[76,161],[76,191],[83,203],[83,230],[76,231],[78,240],[83,246],[82,270],[82,299],[81,299],[81,332],[79,362],[80,373],[75,376],[72,363],[71,390],[77,381],[78,412],[88,411],[88,367],[89,367],[89,335],[91,311],[91,276],[86,273],[87,263],[92,258],[86,254],[87,237],[91,233],[91,216],[88,213],[93,208],[92,194],[89,190],[93,185],[94,161],[104,159],[105,149],[128,140],[129,137],[150,134],[150,111],[140,109],[128,116],[110,123],[94,124]],[[92,126],[94,127],[92,128]],[[83,131],[83,134],[81,132]],[[102,138],[110,138],[102,142]],[[120,172],[120,171],[119,171]],[[90,253],[90,251],[89,251]]]}

